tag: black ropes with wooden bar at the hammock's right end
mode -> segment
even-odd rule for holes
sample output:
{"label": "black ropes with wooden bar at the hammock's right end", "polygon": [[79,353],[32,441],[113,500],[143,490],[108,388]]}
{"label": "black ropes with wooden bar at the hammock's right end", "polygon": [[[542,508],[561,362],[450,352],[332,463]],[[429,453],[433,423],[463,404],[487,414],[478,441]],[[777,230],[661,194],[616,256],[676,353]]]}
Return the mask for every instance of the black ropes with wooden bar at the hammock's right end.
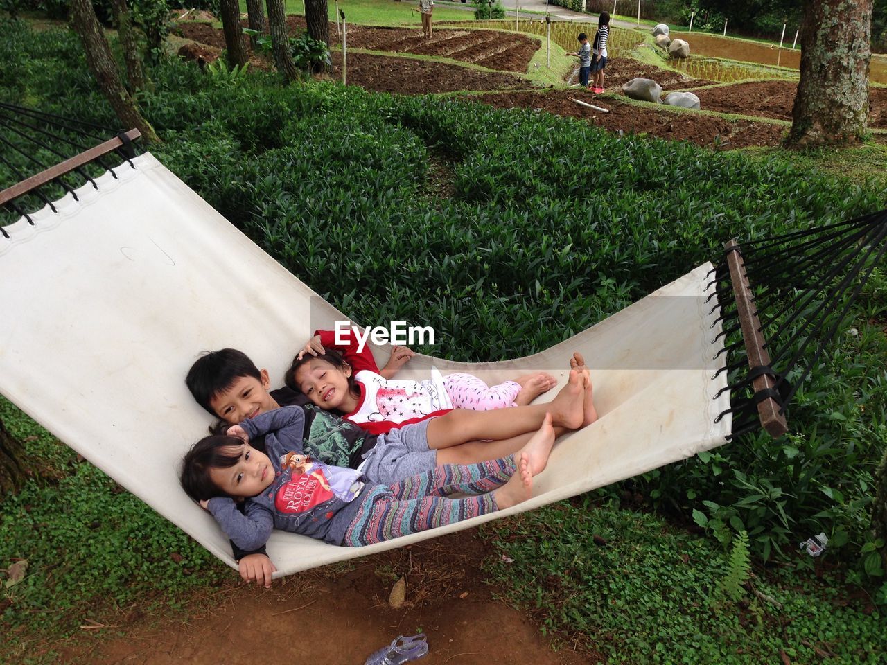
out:
{"label": "black ropes with wooden bar at the hammock's right end", "polygon": [[[727,243],[712,283],[721,306],[732,437],[787,430],[786,412],[853,303],[885,265],[887,210],[767,239]],[[713,304],[713,307],[717,305]],[[723,392],[723,391],[721,391]],[[719,395],[719,394],[718,394]]]}

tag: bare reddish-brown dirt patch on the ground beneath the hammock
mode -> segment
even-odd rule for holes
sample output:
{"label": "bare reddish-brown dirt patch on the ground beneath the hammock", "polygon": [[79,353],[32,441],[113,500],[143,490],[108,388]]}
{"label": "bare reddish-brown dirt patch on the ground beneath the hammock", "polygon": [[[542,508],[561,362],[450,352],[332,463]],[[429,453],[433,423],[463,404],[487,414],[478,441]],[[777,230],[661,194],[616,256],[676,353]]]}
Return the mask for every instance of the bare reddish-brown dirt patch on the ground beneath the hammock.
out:
{"label": "bare reddish-brown dirt patch on the ground beneath the hammock", "polygon": [[[271,591],[232,585],[197,599],[188,622],[148,625],[137,609],[61,648],[61,662],[93,665],[233,665],[329,663],[361,665],[399,635],[422,630],[422,665],[583,665],[597,653],[568,646],[555,652],[538,626],[483,583],[480,566],[494,556],[476,529],[357,559],[343,575],[334,567],[290,576]],[[232,579],[236,574],[232,571]],[[406,602],[389,606],[405,575]]]}

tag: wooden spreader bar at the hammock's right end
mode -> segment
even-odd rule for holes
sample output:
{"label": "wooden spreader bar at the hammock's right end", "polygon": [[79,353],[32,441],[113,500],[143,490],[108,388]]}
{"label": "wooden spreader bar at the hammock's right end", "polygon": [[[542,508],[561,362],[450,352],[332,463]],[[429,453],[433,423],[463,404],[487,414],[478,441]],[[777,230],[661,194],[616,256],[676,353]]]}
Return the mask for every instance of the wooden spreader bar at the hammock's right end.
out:
{"label": "wooden spreader bar at the hammock's right end", "polygon": [[[766,340],[761,332],[761,322],[757,318],[757,309],[754,307],[751,295],[749,278],[745,273],[745,262],[736,239],[724,243],[727,250],[726,262],[730,268],[730,281],[733,282],[733,293],[736,298],[736,311],[739,324],[742,327],[742,339],[745,341],[745,350],[749,356],[749,369],[767,367],[770,365],[770,354],[765,348]],[[762,390],[773,390],[775,381],[768,374],[761,374],[752,379],[752,386],[756,393]],[[773,397],[767,397],[757,404],[757,416],[761,419],[761,426],[767,434],[777,438],[789,431],[785,414],[780,413],[780,403]]]}

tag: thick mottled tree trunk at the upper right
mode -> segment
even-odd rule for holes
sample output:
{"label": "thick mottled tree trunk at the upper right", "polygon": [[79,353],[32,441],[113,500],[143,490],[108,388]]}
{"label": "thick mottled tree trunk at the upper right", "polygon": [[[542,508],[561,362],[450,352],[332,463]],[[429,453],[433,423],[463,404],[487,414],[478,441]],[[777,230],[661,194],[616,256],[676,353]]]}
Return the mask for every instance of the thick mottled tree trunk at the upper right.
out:
{"label": "thick mottled tree trunk at the upper right", "polygon": [[787,147],[859,143],[868,118],[873,0],[805,0]]}

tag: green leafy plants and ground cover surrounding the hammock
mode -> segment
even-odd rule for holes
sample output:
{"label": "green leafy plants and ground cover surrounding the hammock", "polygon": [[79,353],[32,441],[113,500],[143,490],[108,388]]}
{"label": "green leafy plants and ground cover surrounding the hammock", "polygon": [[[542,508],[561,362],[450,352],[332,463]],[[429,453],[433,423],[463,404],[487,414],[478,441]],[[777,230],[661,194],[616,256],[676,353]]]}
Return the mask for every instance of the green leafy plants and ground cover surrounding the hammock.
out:
{"label": "green leafy plants and ground cover surrounding the hammock", "polygon": [[[5,20],[0,34],[11,65],[0,69],[0,100],[116,125],[74,35]],[[821,172],[814,160],[619,137],[454,98],[284,87],[273,74],[216,76],[177,59],[151,74],[140,103],[168,168],[349,317],[432,325],[440,343],[423,350],[457,360],[524,356],[567,339],[716,258],[730,236],[883,207],[877,181]],[[429,193],[432,159],[448,165],[446,196]],[[13,177],[0,166],[3,186]],[[615,662],[779,662],[780,648],[812,662],[803,641],[834,662],[874,657],[887,630],[869,532],[872,473],[887,441],[885,321],[882,271],[854,312],[858,334],[840,334],[798,392],[795,434],[744,437],[632,485],[500,522],[486,533],[514,564],[491,575],[546,628],[579,633]],[[232,575],[8,403],[0,417],[57,470],[0,505],[0,569],[28,561],[23,581],[0,588],[8,653],[76,630],[84,613],[179,606],[194,585]],[[628,487],[647,510],[695,520],[707,536],[619,510]],[[832,544],[818,565],[836,569],[821,578],[797,554],[820,531]],[[717,595],[742,532],[755,587],[779,613],[757,596],[743,606]],[[590,534],[610,544],[601,549]],[[681,567],[676,552],[694,566]],[[849,599],[854,590],[863,600]]]}

